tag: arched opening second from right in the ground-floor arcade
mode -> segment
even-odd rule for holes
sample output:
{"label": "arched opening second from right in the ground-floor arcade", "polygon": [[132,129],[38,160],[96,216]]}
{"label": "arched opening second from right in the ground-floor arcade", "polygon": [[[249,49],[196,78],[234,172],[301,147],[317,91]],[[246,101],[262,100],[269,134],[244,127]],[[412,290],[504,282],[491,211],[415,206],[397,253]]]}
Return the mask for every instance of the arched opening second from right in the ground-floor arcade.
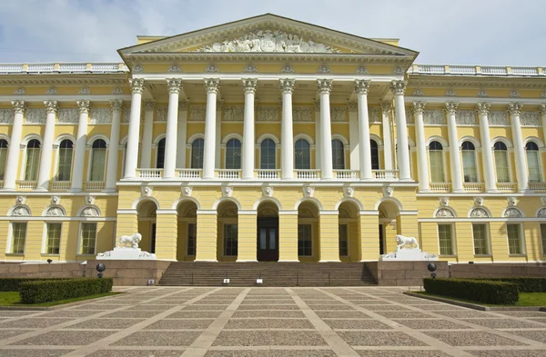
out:
{"label": "arched opening second from right in the ground-floor arcade", "polygon": [[339,260],[360,261],[359,206],[345,201],[339,204]]}

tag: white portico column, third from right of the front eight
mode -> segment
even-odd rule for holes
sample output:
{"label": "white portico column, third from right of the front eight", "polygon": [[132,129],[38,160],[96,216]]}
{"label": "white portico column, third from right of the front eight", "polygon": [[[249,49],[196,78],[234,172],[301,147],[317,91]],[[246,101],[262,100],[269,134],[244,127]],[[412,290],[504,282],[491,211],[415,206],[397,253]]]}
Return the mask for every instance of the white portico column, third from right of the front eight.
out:
{"label": "white portico column, third from right of the front eight", "polygon": [[[320,94],[320,167],[321,178],[331,180],[332,172],[332,128],[330,124],[329,94],[332,90],[331,79],[319,79]],[[318,146],[318,145],[317,145]]]}

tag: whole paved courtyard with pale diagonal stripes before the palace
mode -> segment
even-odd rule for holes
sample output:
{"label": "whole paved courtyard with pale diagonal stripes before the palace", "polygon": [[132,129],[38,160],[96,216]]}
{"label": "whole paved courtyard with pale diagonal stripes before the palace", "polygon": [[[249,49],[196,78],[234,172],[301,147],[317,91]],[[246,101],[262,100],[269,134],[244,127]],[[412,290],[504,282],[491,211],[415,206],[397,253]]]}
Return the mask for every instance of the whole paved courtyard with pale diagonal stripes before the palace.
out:
{"label": "whole paved courtyard with pale diagonal stripes before the palace", "polygon": [[0,311],[0,356],[546,356],[546,312],[478,312],[401,288],[116,290]]}

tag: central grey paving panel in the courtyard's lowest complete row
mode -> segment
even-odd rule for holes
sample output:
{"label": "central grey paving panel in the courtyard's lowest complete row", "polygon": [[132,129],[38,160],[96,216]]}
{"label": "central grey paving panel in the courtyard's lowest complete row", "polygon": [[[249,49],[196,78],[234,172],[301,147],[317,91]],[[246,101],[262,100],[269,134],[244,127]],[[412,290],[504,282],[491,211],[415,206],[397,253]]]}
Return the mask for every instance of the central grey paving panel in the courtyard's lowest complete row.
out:
{"label": "central grey paving panel in the courtyard's lowest complete row", "polygon": [[324,346],[319,332],[311,331],[223,331],[214,346]]}

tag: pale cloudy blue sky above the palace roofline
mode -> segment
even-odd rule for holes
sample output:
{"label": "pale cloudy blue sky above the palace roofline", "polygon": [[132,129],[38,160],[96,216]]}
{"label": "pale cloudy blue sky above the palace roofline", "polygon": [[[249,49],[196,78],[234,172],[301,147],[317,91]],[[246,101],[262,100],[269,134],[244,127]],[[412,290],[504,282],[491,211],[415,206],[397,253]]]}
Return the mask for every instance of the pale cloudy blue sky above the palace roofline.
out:
{"label": "pale cloudy blue sky above the palace roofline", "polygon": [[265,13],[399,38],[418,64],[546,66],[546,0],[0,0],[0,63],[119,62],[136,35]]}

